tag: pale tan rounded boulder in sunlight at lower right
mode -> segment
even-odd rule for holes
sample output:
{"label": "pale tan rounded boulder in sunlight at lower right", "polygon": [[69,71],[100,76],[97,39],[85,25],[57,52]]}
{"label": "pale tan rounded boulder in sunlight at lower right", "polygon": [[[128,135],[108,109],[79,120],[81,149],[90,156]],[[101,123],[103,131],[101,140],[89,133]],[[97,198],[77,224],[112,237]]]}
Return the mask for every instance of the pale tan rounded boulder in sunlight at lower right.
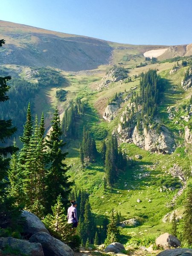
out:
{"label": "pale tan rounded boulder in sunlight at lower right", "polygon": [[177,237],[170,235],[169,233],[164,233],[163,235],[157,237],[156,245],[158,247],[163,247],[163,249],[169,249],[171,247],[179,247],[181,243]]}

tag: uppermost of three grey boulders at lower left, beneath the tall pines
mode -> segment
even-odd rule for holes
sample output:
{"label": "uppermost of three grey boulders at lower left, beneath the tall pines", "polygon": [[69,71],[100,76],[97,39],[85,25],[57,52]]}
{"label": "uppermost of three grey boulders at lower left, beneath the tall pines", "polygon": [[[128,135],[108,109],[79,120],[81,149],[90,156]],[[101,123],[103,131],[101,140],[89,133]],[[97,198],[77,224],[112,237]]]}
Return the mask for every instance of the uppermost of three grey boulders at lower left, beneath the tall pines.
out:
{"label": "uppermost of three grey boulders at lower left, beneath the tall pines", "polygon": [[30,237],[38,232],[45,232],[49,234],[49,231],[43,222],[41,222],[35,214],[23,211],[21,216],[25,218],[23,232],[27,237]]}

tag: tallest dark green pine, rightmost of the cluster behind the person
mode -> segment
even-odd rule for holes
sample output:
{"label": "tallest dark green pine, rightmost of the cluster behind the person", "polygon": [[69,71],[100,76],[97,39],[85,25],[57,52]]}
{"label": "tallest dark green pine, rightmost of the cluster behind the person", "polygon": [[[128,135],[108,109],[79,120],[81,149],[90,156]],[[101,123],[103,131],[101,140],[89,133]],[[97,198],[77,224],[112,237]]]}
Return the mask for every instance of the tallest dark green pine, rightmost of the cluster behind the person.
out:
{"label": "tallest dark green pine, rightmost of the cluster behind the person", "polygon": [[69,167],[63,163],[67,153],[62,153],[61,150],[65,144],[61,140],[62,131],[57,108],[55,108],[51,124],[52,130],[50,134],[47,135],[48,139],[46,140],[47,147],[49,148],[48,157],[50,162],[46,177],[47,212],[50,212],[51,206],[56,203],[57,197],[60,194],[64,200],[64,206],[66,206],[71,185],[66,175]]}

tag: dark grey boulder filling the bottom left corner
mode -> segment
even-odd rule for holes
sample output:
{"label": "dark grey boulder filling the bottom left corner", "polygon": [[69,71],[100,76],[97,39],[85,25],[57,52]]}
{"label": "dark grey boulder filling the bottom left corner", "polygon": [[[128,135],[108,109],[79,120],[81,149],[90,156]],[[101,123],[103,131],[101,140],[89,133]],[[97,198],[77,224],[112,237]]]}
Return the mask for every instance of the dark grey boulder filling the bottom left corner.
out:
{"label": "dark grey boulder filling the bottom left corner", "polygon": [[0,249],[4,250],[5,248],[17,251],[18,255],[44,256],[40,243],[29,243],[29,241],[15,239],[12,237],[0,238]]}

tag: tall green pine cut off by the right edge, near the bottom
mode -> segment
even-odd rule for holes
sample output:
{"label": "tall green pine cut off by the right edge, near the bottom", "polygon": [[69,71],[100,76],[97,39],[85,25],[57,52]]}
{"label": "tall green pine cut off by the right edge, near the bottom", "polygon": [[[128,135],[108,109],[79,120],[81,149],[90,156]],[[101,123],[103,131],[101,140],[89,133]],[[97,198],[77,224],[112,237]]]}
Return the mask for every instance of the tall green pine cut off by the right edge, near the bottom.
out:
{"label": "tall green pine cut off by the right edge, near the bottom", "polygon": [[189,245],[192,245],[192,183],[189,183],[186,191],[183,221],[183,238]]}

